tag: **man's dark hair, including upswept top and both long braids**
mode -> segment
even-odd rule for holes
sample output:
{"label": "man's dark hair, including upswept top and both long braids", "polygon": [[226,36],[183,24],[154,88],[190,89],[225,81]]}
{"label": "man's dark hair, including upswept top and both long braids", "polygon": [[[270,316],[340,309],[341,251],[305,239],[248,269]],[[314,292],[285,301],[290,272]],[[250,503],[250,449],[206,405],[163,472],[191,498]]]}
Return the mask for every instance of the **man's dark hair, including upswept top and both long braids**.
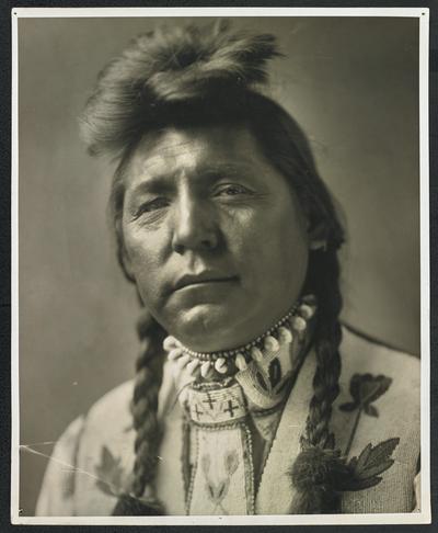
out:
{"label": "man's dark hair, including upswept top and both long braids", "polygon": [[[316,371],[302,452],[333,450],[332,404],[338,394],[342,308],[337,250],[344,234],[333,202],[318,174],[304,134],[293,118],[262,92],[266,63],[278,56],[268,34],[232,33],[226,21],[212,25],[161,27],[138,37],[100,75],[82,116],[89,151],[110,154],[119,162],[113,180],[111,209],[124,269],[120,214],[124,171],[143,135],[168,126],[243,124],[255,136],[270,163],[290,183],[310,225],[322,228],[326,246],[310,252],[306,288],[315,294],[319,311],[314,330]],[[124,269],[126,276],[134,281]],[[159,377],[153,361],[160,353],[163,329],[145,319],[140,338],[147,347],[137,363],[132,415],[137,439],[130,496],[123,496],[114,514],[162,512],[153,495],[161,429],[157,420]],[[159,371],[158,371],[159,372]],[[300,464],[300,457],[296,464]],[[324,487],[310,490],[293,477],[297,497],[291,512],[333,512],[338,501]],[[324,485],[324,481],[320,481]],[[306,484],[304,484],[306,485]],[[139,506],[149,487],[145,506]]]}

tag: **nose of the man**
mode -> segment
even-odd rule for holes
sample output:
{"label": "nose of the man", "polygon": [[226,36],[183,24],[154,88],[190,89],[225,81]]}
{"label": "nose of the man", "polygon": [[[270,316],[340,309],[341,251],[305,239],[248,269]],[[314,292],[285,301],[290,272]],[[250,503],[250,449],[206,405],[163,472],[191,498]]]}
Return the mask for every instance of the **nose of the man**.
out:
{"label": "nose of the man", "polygon": [[218,247],[219,227],[208,202],[183,194],[174,213],[172,248],[176,253],[208,251]]}

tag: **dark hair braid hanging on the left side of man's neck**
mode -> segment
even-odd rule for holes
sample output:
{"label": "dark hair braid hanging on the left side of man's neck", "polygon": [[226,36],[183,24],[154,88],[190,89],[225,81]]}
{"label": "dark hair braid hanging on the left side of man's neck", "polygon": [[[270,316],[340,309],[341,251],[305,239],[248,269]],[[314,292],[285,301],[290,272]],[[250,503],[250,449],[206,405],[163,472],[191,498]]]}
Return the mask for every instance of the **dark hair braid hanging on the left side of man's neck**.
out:
{"label": "dark hair braid hanging on the left side of man's neck", "polygon": [[[130,405],[137,432],[134,443],[136,457],[129,494],[120,496],[113,515],[162,514],[162,507],[153,494],[152,484],[162,438],[162,428],[157,417],[162,365],[157,355],[165,332],[150,315],[143,314],[138,325],[138,334],[146,345],[136,362],[137,373]],[[147,487],[150,491],[143,497]]]}

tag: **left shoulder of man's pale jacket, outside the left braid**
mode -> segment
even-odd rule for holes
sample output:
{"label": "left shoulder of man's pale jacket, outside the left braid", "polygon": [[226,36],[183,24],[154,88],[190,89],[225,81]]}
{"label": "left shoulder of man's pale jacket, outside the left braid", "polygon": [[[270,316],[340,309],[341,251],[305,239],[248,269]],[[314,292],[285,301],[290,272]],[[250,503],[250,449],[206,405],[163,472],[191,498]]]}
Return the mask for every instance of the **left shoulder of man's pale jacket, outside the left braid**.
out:
{"label": "left shoulder of man's pale jacket, outside the left braid", "polygon": [[131,469],[132,388],[134,381],[115,387],[67,427],[46,469],[37,515],[111,513],[113,488],[122,486]]}

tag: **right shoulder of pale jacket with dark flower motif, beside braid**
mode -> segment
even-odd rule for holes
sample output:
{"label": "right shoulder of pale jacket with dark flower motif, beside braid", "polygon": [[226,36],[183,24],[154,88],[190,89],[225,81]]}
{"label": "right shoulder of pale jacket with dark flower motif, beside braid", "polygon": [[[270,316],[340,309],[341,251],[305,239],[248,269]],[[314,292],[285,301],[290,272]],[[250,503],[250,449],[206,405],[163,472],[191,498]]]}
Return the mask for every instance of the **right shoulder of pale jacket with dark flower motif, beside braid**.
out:
{"label": "right shoulder of pale jacket with dark flower motif, beside braid", "polygon": [[419,359],[343,328],[341,393],[332,429],[341,450],[358,456],[396,439],[394,464],[376,487],[346,492],[344,512],[407,512],[414,507],[420,436]]}

